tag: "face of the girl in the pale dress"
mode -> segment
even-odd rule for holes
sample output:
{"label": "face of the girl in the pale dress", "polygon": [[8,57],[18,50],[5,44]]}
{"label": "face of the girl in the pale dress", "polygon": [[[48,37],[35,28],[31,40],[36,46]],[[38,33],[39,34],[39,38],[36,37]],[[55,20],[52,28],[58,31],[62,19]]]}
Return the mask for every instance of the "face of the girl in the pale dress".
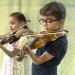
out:
{"label": "face of the girl in the pale dress", "polygon": [[17,29],[20,26],[20,22],[15,17],[10,16],[9,17],[9,26],[10,26],[10,29],[14,31],[15,29]]}

